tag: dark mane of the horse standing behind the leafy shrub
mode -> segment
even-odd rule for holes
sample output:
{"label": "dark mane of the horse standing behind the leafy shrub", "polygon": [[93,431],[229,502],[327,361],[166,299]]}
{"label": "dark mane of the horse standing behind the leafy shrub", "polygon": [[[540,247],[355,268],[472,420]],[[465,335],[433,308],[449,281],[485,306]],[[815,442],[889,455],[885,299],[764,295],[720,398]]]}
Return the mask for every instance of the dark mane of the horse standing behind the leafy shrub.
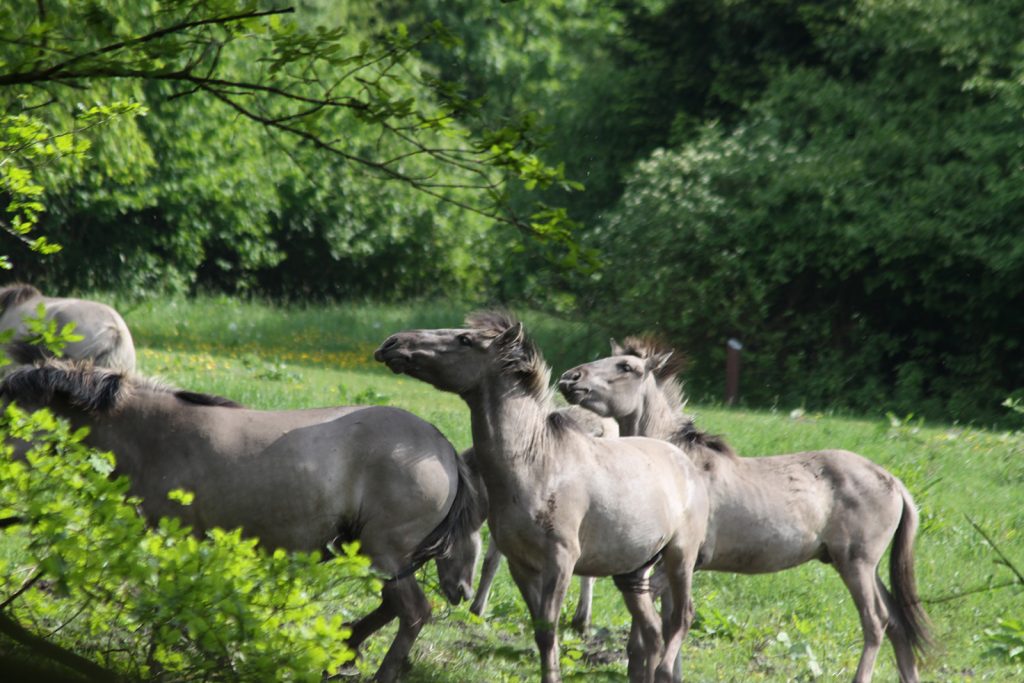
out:
{"label": "dark mane of the horse standing behind the leafy shrub", "polygon": [[18,368],[0,382],[0,395],[7,400],[47,405],[59,396],[87,413],[113,413],[140,390],[169,393],[199,405],[240,408],[227,398],[182,391],[152,377],[97,368],[91,360],[47,358]]}

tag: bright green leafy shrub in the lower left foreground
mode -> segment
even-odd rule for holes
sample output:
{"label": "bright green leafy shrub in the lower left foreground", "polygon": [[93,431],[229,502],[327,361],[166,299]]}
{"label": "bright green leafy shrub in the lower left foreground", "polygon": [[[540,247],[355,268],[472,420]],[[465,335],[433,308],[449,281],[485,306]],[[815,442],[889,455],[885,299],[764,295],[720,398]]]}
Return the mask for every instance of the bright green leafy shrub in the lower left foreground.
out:
{"label": "bright green leafy shrub in the lower left foreground", "polygon": [[[326,600],[379,588],[355,547],[322,562],[267,554],[237,529],[147,529],[128,481],[109,476],[113,455],[87,447],[84,430],[10,404],[0,435],[0,519],[20,522],[0,537],[0,618],[15,640],[138,680],[319,681],[352,657]],[[33,444],[24,460],[16,439]]]}

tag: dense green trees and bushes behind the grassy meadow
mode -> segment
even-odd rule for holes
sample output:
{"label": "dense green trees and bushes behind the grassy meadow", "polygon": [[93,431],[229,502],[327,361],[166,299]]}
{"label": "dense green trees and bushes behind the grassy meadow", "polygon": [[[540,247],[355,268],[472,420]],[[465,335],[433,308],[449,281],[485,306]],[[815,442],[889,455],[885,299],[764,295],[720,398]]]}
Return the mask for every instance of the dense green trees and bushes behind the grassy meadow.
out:
{"label": "dense green trees and bushes behind the grassy meadow", "polygon": [[[493,199],[504,215],[564,209],[568,237],[467,211],[459,193],[472,190],[382,180],[225,99],[183,94],[153,77],[175,57],[156,41],[131,73],[95,62],[78,80],[4,81],[161,18],[145,3],[5,2],[2,153],[45,189],[34,234],[62,246],[39,256],[8,229],[8,279],[126,299],[528,306],[659,333],[690,357],[697,398],[721,396],[735,337],[753,405],[984,422],[1024,389],[1024,2],[289,4],[335,53],[369,58],[382,33],[438,36],[388,75],[404,88],[391,109],[317,114],[318,134],[384,154],[376,124],[401,115],[399,99],[457,102],[438,135],[484,151],[528,130],[516,148],[566,181],[500,166],[519,182]],[[264,82],[245,30],[257,31],[226,35],[216,68]],[[139,109],[74,123],[115,101]],[[75,129],[75,142],[27,154],[11,130],[34,123]],[[442,186],[461,171],[425,172]],[[17,179],[3,180],[17,199]]]}

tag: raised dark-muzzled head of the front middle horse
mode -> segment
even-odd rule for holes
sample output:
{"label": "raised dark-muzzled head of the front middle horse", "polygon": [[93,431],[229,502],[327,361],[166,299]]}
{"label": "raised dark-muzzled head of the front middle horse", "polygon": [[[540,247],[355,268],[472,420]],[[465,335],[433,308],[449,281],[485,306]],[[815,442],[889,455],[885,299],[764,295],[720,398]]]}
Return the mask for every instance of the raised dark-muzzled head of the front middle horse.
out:
{"label": "raised dark-muzzled head of the front middle horse", "polygon": [[460,395],[499,375],[516,377],[530,391],[547,386],[547,367],[522,324],[502,312],[470,315],[466,328],[399,332],[384,340],[374,358]]}

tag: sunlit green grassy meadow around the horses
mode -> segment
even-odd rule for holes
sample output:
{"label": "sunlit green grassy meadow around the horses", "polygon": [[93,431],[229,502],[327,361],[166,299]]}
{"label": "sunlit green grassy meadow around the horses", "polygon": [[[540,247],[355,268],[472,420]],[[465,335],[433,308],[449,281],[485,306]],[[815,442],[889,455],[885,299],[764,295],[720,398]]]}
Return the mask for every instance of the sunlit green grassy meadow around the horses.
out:
{"label": "sunlit green grassy meadow around the horses", "polygon": [[[230,299],[121,308],[144,374],[253,408],[398,405],[436,424],[456,447],[470,444],[468,411],[459,398],[394,376],[372,358],[373,349],[388,334],[412,327],[457,326],[465,308],[426,303],[278,308]],[[601,331],[543,315],[524,318],[555,373],[606,348]],[[1013,574],[968,519],[1024,567],[1021,433],[922,425],[883,415],[854,419],[787,410],[688,408],[698,426],[726,435],[744,455],[844,447],[900,476],[922,510],[919,590],[937,643],[923,668],[924,680],[1024,680],[1024,657],[991,653],[996,641],[987,635],[1000,620],[1024,620],[1024,590],[979,590],[1008,583]],[[423,571],[428,584],[433,581],[432,567]],[[885,567],[883,571],[887,577]],[[563,627],[575,590],[573,585]],[[469,612],[468,604],[451,607],[439,591],[428,592],[435,616],[414,648],[404,680],[536,680],[538,659],[525,607],[504,567],[482,621]],[[845,588],[828,566],[815,562],[763,577],[699,573],[695,601],[697,622],[683,647],[688,681],[842,681],[853,675],[860,627]],[[325,605],[326,610],[332,608]],[[566,680],[625,681],[628,614],[610,581],[598,582],[593,623],[587,638],[562,629],[563,675]],[[1002,635],[1011,643],[1024,639],[1024,632],[1015,636],[1010,627],[1004,627]],[[376,667],[389,637],[373,639],[362,665],[367,670]],[[1024,645],[1024,640],[1018,642]],[[886,644],[876,680],[896,677]]]}

